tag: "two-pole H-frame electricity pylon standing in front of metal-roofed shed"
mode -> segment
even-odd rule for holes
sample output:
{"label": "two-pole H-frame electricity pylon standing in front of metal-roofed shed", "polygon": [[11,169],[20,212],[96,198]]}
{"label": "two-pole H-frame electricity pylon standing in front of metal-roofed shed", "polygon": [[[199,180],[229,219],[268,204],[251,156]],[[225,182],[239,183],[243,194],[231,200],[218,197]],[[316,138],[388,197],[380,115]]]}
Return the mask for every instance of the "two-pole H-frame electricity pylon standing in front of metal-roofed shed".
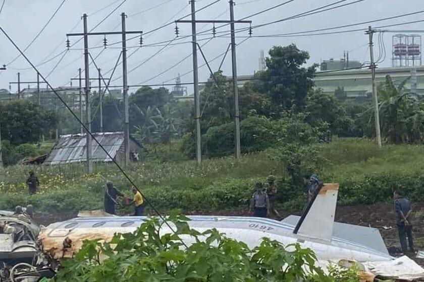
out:
{"label": "two-pole H-frame electricity pylon standing in front of metal-roofed shed", "polygon": [[[124,127],[124,151],[125,151],[125,165],[130,162],[130,130],[129,130],[129,108],[128,108],[128,81],[127,81],[127,34],[142,34],[142,31],[126,31],[125,27],[125,13],[121,14],[122,31],[112,32],[88,32],[87,30],[87,14],[83,15],[84,32],[83,33],[68,33],[66,36],[83,36],[84,37],[84,66],[85,66],[85,104],[86,104],[86,124],[89,131],[91,131],[91,114],[90,114],[90,76],[89,76],[89,52],[88,52],[88,37],[89,36],[106,36],[106,35],[121,35],[122,36],[122,70],[123,70],[123,93],[124,93],[124,108],[125,108],[125,127]],[[87,133],[87,172],[92,172],[91,164],[91,138]]]}

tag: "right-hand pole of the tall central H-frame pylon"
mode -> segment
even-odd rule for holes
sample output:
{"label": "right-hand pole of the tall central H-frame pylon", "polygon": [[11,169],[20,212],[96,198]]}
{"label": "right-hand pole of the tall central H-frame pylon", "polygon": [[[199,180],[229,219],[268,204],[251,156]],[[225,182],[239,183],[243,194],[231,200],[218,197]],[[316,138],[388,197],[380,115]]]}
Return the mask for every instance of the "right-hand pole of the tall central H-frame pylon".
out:
{"label": "right-hand pole of the tall central H-frame pylon", "polygon": [[231,57],[233,65],[233,93],[234,93],[234,122],[236,125],[236,160],[240,161],[240,113],[237,86],[237,60],[236,60],[236,38],[234,32],[234,2],[230,0],[230,26],[231,26]]}

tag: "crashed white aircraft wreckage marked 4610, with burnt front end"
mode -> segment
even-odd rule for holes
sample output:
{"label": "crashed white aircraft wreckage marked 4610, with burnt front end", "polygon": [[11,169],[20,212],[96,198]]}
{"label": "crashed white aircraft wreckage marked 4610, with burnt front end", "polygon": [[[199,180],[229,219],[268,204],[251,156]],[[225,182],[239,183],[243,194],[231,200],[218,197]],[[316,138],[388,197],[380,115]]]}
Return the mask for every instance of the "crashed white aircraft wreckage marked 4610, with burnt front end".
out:
{"label": "crashed white aircraft wreckage marked 4610, with burnt front end", "polygon": [[[399,281],[422,281],[424,269],[406,256],[389,255],[378,229],[335,223],[338,184],[326,184],[306,206],[301,217],[280,221],[255,217],[191,216],[189,226],[199,232],[216,228],[227,237],[257,246],[269,237],[284,245],[299,243],[312,249],[317,264],[358,263],[364,281],[390,277]],[[6,212],[7,213],[7,212]],[[109,241],[115,233],[134,232],[146,217],[116,217],[89,213],[64,222],[37,227],[22,215],[0,212],[0,281],[37,281],[51,277],[62,259],[75,254],[84,240]],[[1,224],[6,228],[1,229]],[[165,225],[162,234],[171,233]],[[190,238],[184,239],[190,244]],[[26,278],[24,278],[25,276]]]}

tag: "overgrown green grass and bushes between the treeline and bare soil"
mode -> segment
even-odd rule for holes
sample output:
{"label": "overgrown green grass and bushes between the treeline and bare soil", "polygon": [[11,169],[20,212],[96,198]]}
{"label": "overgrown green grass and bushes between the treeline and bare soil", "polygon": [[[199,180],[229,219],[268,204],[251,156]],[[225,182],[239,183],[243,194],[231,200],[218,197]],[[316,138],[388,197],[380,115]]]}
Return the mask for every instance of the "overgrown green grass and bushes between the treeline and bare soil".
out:
{"label": "overgrown green grass and bushes between the treeline and bare soil", "polygon": [[[424,201],[420,192],[424,182],[423,146],[386,145],[378,149],[371,140],[347,138],[316,145],[314,152],[322,162],[315,171],[320,178],[341,184],[340,204],[390,201],[394,189],[404,190],[413,201]],[[171,155],[179,159],[179,154],[173,149]],[[209,159],[201,167],[194,161],[162,163],[158,159],[165,157],[161,155],[156,160],[131,164],[126,170],[161,211],[247,208],[254,182],[264,181],[269,174],[278,177],[279,208],[301,208],[305,189],[292,183],[285,163],[275,155],[274,149],[247,154],[238,165],[232,157]],[[33,196],[25,185],[29,170],[35,171],[41,183],[39,193]],[[83,171],[83,164],[9,167],[0,175],[0,209],[29,203],[40,213],[100,209],[107,180],[131,195],[129,183],[113,165],[95,164],[92,175]],[[130,213],[132,209],[120,212]]]}

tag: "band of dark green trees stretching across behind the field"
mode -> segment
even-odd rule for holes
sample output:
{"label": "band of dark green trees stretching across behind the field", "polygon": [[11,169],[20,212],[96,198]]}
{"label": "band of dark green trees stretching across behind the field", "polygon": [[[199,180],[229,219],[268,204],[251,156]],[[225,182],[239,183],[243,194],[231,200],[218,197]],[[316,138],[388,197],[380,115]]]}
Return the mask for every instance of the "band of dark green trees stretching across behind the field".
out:
{"label": "band of dark green trees stretching across behind the field", "polygon": [[[317,65],[305,67],[308,59],[309,54],[294,44],[274,46],[266,58],[266,69],[239,88],[243,153],[288,144],[330,142],[335,135],[375,137],[372,105],[367,101],[342,101],[338,99],[340,95],[324,95],[314,89]],[[381,131],[387,143],[424,142],[424,103],[405,91],[407,82],[408,79],[395,83],[387,77],[378,87]],[[93,92],[91,100],[92,130],[97,132],[100,131],[99,93]],[[102,101],[103,130],[122,131],[122,100],[106,95]],[[73,104],[73,108],[78,111],[77,105]],[[56,132],[79,132],[75,118],[61,109],[55,103],[38,107],[28,101],[2,105],[5,146],[8,142],[12,146],[34,143],[42,135],[55,137]],[[182,138],[181,151],[189,158],[194,157],[192,101],[179,101],[163,87],[142,87],[130,95],[129,109],[130,133],[147,150],[156,151],[156,145],[171,144],[172,140]],[[202,154],[208,157],[233,154],[234,100],[231,82],[222,72],[210,76],[201,91],[200,109]],[[16,158],[11,163],[14,161]]]}

